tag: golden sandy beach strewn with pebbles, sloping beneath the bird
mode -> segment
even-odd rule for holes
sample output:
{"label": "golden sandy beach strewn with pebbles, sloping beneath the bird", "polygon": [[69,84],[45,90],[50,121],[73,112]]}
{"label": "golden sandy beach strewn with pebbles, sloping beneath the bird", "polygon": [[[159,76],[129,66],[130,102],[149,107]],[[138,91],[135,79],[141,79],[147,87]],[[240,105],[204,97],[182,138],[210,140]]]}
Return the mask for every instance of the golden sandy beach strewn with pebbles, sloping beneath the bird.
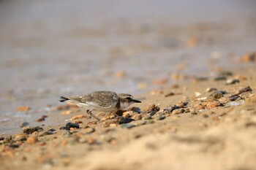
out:
{"label": "golden sandy beach strewn with pebbles, sloping beneath the bird", "polygon": [[[2,136],[1,169],[256,169],[255,72],[234,72],[232,77],[240,75],[234,85],[189,81],[136,96],[144,98],[132,106],[140,108],[140,115],[119,113],[138,119],[128,124],[118,125],[117,118],[97,123],[83,117],[78,119],[83,122],[80,128],[69,131],[59,129],[64,125],[42,126],[43,131],[33,134]],[[228,97],[246,86],[252,91],[230,103]],[[213,93],[206,88],[227,93],[203,101]],[[174,95],[165,97],[170,92]],[[70,117],[85,115],[75,107],[59,109],[71,110]],[[150,114],[151,119],[140,120]]]}

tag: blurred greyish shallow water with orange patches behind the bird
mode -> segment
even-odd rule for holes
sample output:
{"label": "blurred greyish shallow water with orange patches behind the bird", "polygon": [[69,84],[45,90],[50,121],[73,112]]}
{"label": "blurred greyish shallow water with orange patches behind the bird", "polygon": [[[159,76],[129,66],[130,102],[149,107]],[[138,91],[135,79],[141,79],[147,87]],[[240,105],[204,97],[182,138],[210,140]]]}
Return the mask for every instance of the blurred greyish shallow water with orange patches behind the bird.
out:
{"label": "blurred greyish shallow water with orange patches behind the bird", "polygon": [[144,93],[240,68],[255,51],[255,9],[254,0],[1,0],[0,131],[51,114],[59,96]]}

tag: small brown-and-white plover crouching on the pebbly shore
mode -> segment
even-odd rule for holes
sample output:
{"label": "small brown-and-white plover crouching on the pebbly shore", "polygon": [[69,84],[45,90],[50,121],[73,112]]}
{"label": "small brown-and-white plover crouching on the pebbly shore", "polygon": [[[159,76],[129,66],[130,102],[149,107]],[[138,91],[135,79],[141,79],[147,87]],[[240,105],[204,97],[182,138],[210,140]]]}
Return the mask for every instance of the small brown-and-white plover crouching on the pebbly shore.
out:
{"label": "small brown-and-white plover crouching on the pebbly shore", "polygon": [[83,96],[61,96],[59,101],[69,101],[78,105],[78,107],[83,107],[89,115],[97,120],[100,120],[100,118],[93,115],[92,111],[114,112],[118,109],[125,109],[133,103],[141,103],[141,101],[133,99],[130,94],[113,91],[94,91]]}

